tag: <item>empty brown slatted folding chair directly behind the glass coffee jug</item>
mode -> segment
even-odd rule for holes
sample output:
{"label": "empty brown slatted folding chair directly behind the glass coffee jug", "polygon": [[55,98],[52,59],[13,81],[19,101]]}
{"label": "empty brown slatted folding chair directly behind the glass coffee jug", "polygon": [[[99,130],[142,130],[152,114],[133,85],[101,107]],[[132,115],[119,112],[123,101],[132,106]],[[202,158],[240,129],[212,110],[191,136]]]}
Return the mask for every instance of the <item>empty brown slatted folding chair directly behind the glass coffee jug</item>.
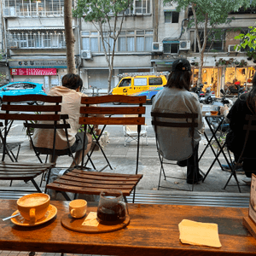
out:
{"label": "empty brown slatted folding chair directly behind the glass coffee jug", "polygon": [[[145,113],[143,104],[146,102],[146,96],[96,96],[96,97],[82,97],[82,104],[80,113],[85,116],[79,119],[79,124],[84,125],[86,131],[87,125],[137,125],[138,141],[137,141],[137,161],[136,161],[136,174],[119,174],[119,173],[102,173],[84,171],[84,155],[82,165],[77,169],[63,175],[55,180],[53,183],[47,185],[48,189],[61,191],[62,195],[70,200],[67,192],[75,194],[86,195],[100,195],[104,189],[118,189],[123,192],[124,196],[133,194],[133,202],[135,198],[135,190],[137,183],[143,177],[142,174],[137,174],[138,171],[138,157],[139,157],[139,135],[141,125],[145,124],[145,118],[142,116]],[[91,104],[100,104],[108,102],[121,102],[129,104],[138,104],[137,107],[90,107]],[[105,115],[105,117],[97,117],[97,114]],[[114,114],[137,114],[137,117],[113,117]],[[84,137],[85,137],[84,133]],[[85,148],[85,145],[84,145]],[[84,152],[84,150],[83,150]],[[102,151],[103,154],[103,151]],[[103,154],[105,159],[108,160],[106,154]],[[85,168],[86,169],[86,168]]]}

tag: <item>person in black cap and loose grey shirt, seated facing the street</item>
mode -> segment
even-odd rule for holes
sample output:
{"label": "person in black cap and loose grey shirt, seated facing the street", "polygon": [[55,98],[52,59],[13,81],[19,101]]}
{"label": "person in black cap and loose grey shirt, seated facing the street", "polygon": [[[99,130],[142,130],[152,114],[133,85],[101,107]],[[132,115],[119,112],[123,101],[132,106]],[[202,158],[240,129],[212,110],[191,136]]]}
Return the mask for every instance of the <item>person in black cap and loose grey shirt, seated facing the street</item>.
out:
{"label": "person in black cap and loose grey shirt, seated facing the street", "polygon": [[[203,121],[198,96],[193,92],[189,92],[191,75],[189,61],[183,58],[174,61],[167,84],[154,97],[151,111],[159,113],[198,113],[198,119],[196,120],[198,127],[195,128],[194,134],[195,159],[197,159],[198,145],[201,140],[199,130],[203,126]],[[203,177],[198,171],[198,162],[194,162],[194,157],[189,150],[191,139],[188,136],[188,131],[170,127],[159,127],[158,131],[158,137],[163,137],[162,141],[165,142],[166,152],[161,152],[162,155],[167,160],[177,160],[178,166],[187,166],[187,183],[201,181]]]}

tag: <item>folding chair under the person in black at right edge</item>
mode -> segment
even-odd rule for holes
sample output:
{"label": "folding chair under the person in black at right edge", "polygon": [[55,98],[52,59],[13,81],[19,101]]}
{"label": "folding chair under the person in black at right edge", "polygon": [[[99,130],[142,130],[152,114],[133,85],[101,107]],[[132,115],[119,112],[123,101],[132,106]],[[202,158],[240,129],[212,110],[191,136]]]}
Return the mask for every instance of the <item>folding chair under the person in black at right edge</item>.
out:
{"label": "folding chair under the person in black at right edge", "polygon": [[[245,157],[245,156],[243,156],[245,150],[247,149],[247,142],[248,142],[250,134],[256,132],[256,123],[255,123],[256,115],[247,114],[245,119],[248,121],[248,124],[243,125],[243,130],[246,131],[246,135],[245,135],[243,147],[241,149],[241,154],[239,155],[239,158],[238,158],[235,166],[233,166],[232,164],[229,163],[231,174],[230,174],[230,177],[229,177],[228,181],[224,185],[224,189],[226,189],[226,187],[230,183],[231,177],[234,176],[235,179],[236,179],[236,184],[237,184],[237,187],[238,187],[238,190],[239,190],[240,193],[241,193],[241,189],[240,189],[239,181],[238,181],[237,176],[236,176],[236,169],[237,169],[238,163],[241,163],[242,160],[247,160],[247,159],[256,160],[256,155],[255,155],[255,157]],[[250,148],[250,149],[253,150],[253,148]],[[230,151],[229,151],[229,154],[230,154]],[[230,157],[230,162],[231,162],[231,157]]]}

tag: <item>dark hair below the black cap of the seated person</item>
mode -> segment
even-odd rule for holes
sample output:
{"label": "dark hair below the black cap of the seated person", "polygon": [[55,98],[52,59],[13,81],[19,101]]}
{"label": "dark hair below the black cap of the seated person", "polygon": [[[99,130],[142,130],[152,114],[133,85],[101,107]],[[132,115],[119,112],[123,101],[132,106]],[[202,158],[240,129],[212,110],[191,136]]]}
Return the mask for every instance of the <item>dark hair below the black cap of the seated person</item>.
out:
{"label": "dark hair below the black cap of the seated person", "polygon": [[190,89],[191,71],[172,71],[168,77],[166,87],[179,89]]}

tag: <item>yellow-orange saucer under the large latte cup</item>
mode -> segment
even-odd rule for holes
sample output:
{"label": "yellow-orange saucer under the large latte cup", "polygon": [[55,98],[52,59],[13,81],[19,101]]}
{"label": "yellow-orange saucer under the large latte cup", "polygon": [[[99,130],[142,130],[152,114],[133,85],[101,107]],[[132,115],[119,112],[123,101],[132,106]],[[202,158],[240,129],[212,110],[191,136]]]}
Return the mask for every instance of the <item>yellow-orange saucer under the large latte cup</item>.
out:
{"label": "yellow-orange saucer under the large latte cup", "polygon": [[[17,214],[19,210],[15,211],[13,215]],[[27,227],[32,227],[32,226],[37,226],[40,224],[44,224],[45,222],[49,221],[50,219],[54,218],[57,214],[57,208],[53,205],[49,205],[48,211],[45,213],[43,218],[38,219],[34,224],[30,224],[28,220],[23,218],[21,215],[17,216],[15,218],[11,218],[11,222],[13,224],[19,225],[19,226],[27,226]]]}

